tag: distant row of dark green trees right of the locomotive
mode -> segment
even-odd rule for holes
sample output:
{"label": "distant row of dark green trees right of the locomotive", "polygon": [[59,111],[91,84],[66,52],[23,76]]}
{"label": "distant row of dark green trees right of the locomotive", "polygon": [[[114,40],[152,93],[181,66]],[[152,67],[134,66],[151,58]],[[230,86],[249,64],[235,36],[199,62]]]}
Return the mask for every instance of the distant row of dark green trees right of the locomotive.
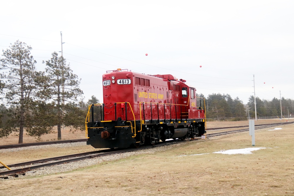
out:
{"label": "distant row of dark green trees right of the locomotive", "polygon": [[[214,118],[217,120],[225,120],[226,118],[232,118],[232,120],[247,120],[248,116],[250,116],[250,118],[255,118],[254,96],[250,96],[246,104],[238,97],[233,99],[229,94],[213,93],[207,97],[203,94],[197,96],[205,98],[206,118]],[[280,102],[278,98],[273,98],[271,101],[268,101],[256,97],[257,117],[277,116],[281,118],[280,103],[282,103],[283,118],[288,118],[288,114],[293,115],[294,100],[292,99],[285,99],[282,97]]]}

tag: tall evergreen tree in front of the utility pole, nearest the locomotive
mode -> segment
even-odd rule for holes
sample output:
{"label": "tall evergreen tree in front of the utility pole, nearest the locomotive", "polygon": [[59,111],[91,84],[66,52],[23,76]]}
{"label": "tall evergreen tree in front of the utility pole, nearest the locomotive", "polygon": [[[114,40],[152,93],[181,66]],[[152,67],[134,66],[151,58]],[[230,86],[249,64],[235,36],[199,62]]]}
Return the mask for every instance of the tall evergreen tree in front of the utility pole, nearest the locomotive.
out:
{"label": "tall evergreen tree in front of the utility pole, nearest the locomotive", "polygon": [[57,138],[61,140],[61,126],[70,126],[71,130],[83,128],[84,115],[77,115],[82,103],[83,91],[79,88],[78,76],[73,73],[66,60],[56,52],[46,62],[46,73],[49,74],[51,105],[54,107],[54,122],[57,125]]}

